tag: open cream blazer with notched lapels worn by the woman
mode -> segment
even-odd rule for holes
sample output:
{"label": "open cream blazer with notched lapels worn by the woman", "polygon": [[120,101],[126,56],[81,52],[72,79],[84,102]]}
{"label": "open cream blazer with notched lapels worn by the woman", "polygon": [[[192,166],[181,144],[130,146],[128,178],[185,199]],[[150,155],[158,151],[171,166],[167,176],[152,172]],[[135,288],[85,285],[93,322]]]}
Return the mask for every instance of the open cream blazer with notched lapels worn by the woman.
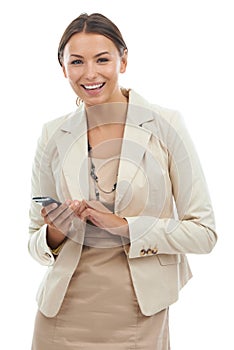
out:
{"label": "open cream blazer with notched lapels worn by the woman", "polygon": [[[32,172],[32,196],[89,199],[84,106],[43,127]],[[48,271],[37,294],[41,312],[55,316],[82,252],[85,224],[74,220],[55,259],[46,242],[40,205],[30,209],[30,254]],[[178,299],[190,279],[187,253],[209,253],[215,233],[204,175],[180,115],[151,105],[130,90],[119,165],[115,213],[129,224],[123,240],[144,315]],[[121,282],[120,282],[121,283]]]}

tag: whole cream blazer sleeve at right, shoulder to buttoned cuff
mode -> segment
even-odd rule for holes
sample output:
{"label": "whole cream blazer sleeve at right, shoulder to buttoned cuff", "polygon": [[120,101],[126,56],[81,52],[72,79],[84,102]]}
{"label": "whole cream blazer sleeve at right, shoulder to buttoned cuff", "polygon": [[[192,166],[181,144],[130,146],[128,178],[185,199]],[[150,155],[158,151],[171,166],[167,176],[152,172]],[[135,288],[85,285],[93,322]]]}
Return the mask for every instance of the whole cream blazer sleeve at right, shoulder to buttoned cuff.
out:
{"label": "whole cream blazer sleeve at right, shoulder to buttoned cuff", "polygon": [[[154,254],[204,254],[216,244],[215,219],[206,180],[195,147],[179,113],[165,136],[174,215],[126,217],[129,258]],[[143,254],[142,254],[143,252]]]}

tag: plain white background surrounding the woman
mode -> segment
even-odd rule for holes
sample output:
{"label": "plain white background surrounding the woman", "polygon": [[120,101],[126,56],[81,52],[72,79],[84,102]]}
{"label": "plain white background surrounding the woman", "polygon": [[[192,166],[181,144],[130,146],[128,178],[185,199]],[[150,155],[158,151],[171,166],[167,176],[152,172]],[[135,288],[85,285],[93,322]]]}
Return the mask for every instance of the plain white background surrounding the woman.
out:
{"label": "plain white background surrounding the woman", "polygon": [[183,114],[216,214],[218,244],[209,255],[189,256],[194,278],[171,307],[172,350],[234,349],[232,1],[9,0],[0,6],[1,348],[30,349],[45,272],[27,252],[36,141],[45,121],[76,107],[57,63],[58,42],[80,13],[101,12],[129,48],[122,85]]}

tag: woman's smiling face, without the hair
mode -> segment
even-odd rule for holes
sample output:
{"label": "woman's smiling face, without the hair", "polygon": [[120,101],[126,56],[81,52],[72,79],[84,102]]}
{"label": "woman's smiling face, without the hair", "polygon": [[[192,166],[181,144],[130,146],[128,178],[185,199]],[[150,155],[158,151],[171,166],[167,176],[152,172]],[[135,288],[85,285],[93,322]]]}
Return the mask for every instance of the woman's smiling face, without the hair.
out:
{"label": "woman's smiling face, without the hair", "polygon": [[64,75],[86,106],[125,101],[118,76],[126,65],[127,53],[120,57],[114,43],[103,35],[74,34],[64,49]]}

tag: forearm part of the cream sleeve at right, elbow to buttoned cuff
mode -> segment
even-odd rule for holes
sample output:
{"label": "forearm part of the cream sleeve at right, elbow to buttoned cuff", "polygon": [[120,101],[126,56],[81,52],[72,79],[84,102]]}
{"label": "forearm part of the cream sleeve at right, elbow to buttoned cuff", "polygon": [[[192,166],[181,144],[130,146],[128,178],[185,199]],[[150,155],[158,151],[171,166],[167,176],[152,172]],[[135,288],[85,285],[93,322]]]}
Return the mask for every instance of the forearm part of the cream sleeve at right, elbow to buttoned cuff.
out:
{"label": "forearm part of the cream sleeve at right, elbow to buttoned cuff", "polygon": [[129,257],[141,256],[141,250],[155,249],[158,254],[205,254],[217,240],[211,222],[158,219],[151,216],[127,217],[130,232]]}

